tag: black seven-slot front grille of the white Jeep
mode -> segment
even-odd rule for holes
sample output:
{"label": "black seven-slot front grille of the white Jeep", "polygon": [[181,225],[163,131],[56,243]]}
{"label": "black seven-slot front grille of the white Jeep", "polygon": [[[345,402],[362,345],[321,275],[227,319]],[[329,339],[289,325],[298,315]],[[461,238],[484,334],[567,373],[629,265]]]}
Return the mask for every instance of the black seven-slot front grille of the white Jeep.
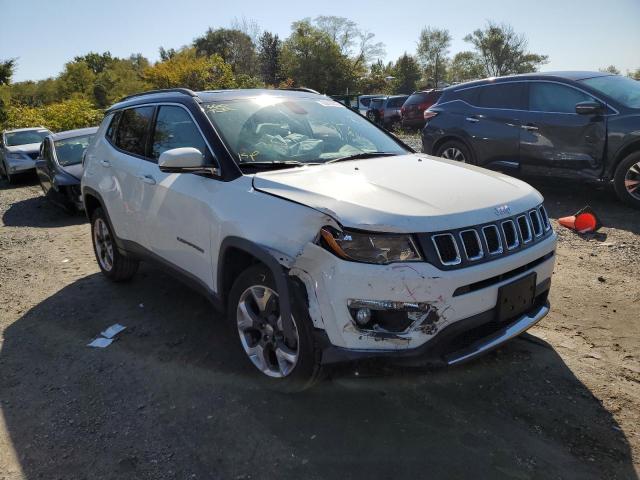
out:
{"label": "black seven-slot front grille of the white Jeep", "polygon": [[551,235],[541,205],[511,218],[446,232],[417,234],[426,260],[449,270],[519,252]]}

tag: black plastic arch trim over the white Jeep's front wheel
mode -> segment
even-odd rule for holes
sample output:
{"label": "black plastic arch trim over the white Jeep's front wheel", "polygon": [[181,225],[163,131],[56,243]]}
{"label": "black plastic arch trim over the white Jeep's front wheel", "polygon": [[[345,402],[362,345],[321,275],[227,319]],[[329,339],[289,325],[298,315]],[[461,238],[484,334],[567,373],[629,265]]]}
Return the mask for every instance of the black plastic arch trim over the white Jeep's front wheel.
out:
{"label": "black plastic arch trim over the white Jeep's front wheel", "polygon": [[[227,298],[221,292],[229,291],[231,285],[225,285],[225,258],[229,253],[229,250],[237,249],[248,253],[255,257],[258,261],[263,263],[273,275],[273,280],[276,282],[276,288],[278,289],[278,297],[280,299],[280,315],[283,321],[283,330],[287,338],[292,338],[293,335],[293,322],[291,321],[291,294],[289,276],[286,270],[278,263],[276,258],[271,255],[260,245],[247,240],[242,237],[227,237],[220,244],[220,250],[218,253],[218,271],[217,271],[217,289],[219,297],[226,305]],[[229,288],[227,288],[229,287]]]}

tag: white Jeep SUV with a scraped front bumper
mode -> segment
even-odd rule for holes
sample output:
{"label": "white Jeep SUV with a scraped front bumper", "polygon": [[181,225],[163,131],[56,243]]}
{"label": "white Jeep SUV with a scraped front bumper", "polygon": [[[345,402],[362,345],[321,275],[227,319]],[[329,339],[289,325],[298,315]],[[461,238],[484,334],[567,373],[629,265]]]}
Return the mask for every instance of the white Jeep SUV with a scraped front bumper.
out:
{"label": "white Jeep SUV with a scraped front bumper", "polygon": [[536,190],[416,154],[314,93],[123,99],[82,194],[108,278],[164,265],[286,388],[361,358],[458,364],[549,310],[556,235]]}

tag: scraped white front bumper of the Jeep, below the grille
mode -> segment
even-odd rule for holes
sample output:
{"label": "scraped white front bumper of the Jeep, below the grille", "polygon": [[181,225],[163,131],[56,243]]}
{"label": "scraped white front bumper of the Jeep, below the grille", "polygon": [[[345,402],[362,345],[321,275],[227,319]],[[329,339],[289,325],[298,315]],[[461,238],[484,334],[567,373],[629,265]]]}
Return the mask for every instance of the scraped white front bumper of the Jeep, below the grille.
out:
{"label": "scraped white front bumper of the Jeep, below the grille", "polygon": [[[309,244],[289,275],[306,288],[309,314],[324,347],[323,363],[395,357],[452,365],[496,348],[547,314],[555,244],[553,234],[518,254],[455,271],[426,262],[347,262]],[[533,272],[537,281],[531,309],[498,322],[500,287]],[[407,306],[415,321],[393,331],[362,328],[349,308],[354,301],[378,302],[382,308]]]}

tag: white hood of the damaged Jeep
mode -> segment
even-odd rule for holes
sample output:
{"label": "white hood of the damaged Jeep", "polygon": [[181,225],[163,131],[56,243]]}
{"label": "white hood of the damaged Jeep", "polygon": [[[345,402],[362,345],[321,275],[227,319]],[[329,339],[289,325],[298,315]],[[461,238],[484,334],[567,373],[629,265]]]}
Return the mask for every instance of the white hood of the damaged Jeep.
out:
{"label": "white hood of the damaged Jeep", "polygon": [[435,232],[498,219],[542,202],[530,185],[501,173],[421,154],[262,172],[256,190],[326,213],[345,227]]}

